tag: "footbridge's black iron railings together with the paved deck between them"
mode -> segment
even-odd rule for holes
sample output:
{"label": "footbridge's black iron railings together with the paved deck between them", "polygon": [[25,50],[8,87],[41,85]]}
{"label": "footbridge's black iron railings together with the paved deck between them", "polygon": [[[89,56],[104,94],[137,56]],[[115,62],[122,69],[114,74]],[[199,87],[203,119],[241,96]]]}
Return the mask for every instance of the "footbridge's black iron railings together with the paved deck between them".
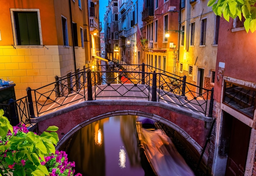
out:
{"label": "footbridge's black iron railings together with the paved deck between them", "polygon": [[[4,105],[5,112],[16,112],[11,117],[18,117],[19,122],[27,124],[30,118],[81,101],[132,98],[168,103],[212,117],[213,90],[187,83],[186,76],[180,77],[145,64],[97,64],[92,70],[85,68],[55,79],[37,89],[27,88],[26,97]],[[199,89],[202,93],[196,91]]]}

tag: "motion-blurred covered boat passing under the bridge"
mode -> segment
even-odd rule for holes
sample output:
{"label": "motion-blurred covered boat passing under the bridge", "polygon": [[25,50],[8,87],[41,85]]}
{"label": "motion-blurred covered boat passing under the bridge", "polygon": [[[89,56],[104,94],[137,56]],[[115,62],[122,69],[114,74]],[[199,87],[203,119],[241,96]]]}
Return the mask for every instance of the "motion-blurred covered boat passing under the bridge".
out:
{"label": "motion-blurred covered boat passing under the bridge", "polygon": [[[140,117],[141,118],[141,117]],[[157,176],[194,176],[184,158],[158,122],[141,118],[136,122],[140,147]]]}

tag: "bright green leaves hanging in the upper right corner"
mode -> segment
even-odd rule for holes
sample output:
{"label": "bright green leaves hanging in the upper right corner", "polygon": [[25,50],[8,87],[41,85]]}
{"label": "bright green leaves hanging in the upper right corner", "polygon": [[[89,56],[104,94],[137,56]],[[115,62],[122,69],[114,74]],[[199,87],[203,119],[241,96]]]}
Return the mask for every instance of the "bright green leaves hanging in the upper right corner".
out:
{"label": "bright green leaves hanging in the upper right corner", "polygon": [[212,6],[216,15],[223,15],[229,22],[229,18],[235,19],[237,16],[242,20],[245,17],[245,30],[253,33],[256,30],[256,0],[209,0],[208,6]]}

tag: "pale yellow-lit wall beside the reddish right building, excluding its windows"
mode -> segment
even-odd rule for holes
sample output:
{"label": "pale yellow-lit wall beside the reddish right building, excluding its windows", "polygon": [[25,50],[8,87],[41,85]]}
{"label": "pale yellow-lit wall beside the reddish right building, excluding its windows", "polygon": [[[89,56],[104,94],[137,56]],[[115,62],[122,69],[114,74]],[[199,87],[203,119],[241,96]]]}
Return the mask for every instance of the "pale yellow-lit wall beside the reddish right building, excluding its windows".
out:
{"label": "pale yellow-lit wall beside the reddish right building, excluding its windows", "polygon": [[[216,15],[211,7],[207,7],[207,1],[195,1],[190,4],[185,1],[185,7],[181,9],[181,26],[184,26],[184,36],[180,35],[179,61],[176,65],[176,73],[180,72],[180,64],[184,71],[189,71],[192,66],[193,72],[191,83],[200,86],[198,69],[204,69],[203,87],[211,89],[211,74],[215,71],[218,44],[214,44]],[[207,19],[205,45],[200,45],[201,22]],[[194,44],[191,45],[191,23],[195,23]],[[181,40],[184,37],[184,44]],[[182,72],[182,71],[181,71]]]}

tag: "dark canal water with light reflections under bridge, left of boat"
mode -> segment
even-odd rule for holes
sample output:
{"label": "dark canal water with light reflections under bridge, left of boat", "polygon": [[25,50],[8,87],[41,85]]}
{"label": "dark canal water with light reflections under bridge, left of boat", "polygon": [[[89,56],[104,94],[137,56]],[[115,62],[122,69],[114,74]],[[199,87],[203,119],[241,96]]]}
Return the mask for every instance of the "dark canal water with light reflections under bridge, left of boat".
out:
{"label": "dark canal water with light reflections under bridge, left of boat", "polygon": [[130,115],[109,117],[76,132],[67,150],[69,160],[76,163],[76,173],[83,176],[153,176],[152,169],[140,156],[136,118]]}

